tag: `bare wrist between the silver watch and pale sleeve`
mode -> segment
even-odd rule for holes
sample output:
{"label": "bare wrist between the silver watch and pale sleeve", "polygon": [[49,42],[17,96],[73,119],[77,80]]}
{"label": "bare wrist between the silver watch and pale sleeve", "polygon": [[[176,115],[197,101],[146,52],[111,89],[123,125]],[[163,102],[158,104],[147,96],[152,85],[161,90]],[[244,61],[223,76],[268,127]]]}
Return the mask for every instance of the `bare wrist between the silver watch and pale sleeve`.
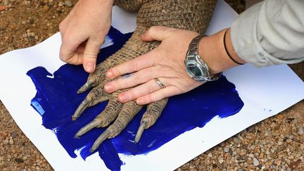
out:
{"label": "bare wrist between the silver watch and pale sleeve", "polygon": [[228,30],[225,37],[227,52],[225,51],[223,38],[226,31],[227,30],[222,30],[209,37],[203,37],[198,44],[198,54],[208,65],[211,74],[216,74],[239,65],[232,61],[232,59],[229,58],[229,55],[239,63],[246,63],[239,58],[234,51],[230,39],[230,30]]}

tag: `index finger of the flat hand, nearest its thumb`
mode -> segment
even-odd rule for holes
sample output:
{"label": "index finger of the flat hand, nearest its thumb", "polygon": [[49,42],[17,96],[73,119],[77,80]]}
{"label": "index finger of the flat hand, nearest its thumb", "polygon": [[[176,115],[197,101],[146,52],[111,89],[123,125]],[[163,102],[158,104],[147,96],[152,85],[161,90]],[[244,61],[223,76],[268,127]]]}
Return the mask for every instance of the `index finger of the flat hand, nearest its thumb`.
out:
{"label": "index finger of the flat hand, nearest its thumb", "polygon": [[137,58],[110,68],[110,70],[106,72],[106,77],[113,79],[127,73],[132,73],[144,68],[151,67],[155,61],[156,56],[156,49],[153,49],[144,55],[138,56]]}

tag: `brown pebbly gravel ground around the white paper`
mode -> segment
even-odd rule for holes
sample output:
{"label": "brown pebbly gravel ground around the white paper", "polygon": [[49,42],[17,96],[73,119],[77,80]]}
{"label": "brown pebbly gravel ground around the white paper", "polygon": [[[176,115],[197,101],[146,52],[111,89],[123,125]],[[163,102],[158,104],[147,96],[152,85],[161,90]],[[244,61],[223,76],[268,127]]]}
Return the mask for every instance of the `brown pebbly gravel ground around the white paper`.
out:
{"label": "brown pebbly gravel ground around the white paper", "polygon": [[[243,1],[227,0],[236,11]],[[58,32],[74,1],[0,0],[0,54]],[[291,65],[304,79],[304,63]],[[263,120],[177,170],[304,170],[304,101]],[[0,101],[0,170],[53,170]]]}

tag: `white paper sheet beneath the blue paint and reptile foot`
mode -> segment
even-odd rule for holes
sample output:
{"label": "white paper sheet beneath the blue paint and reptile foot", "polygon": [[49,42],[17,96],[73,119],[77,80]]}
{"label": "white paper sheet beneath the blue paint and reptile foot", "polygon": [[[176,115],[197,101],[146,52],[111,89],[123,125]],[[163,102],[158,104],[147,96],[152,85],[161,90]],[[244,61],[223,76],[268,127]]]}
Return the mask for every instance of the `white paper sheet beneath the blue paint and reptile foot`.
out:
{"label": "white paper sheet beneath the blue paint and reptile foot", "polygon": [[[229,27],[235,17],[236,13],[224,1],[218,1],[208,34]],[[121,32],[133,31],[135,21],[134,13],[114,9],[113,26]],[[26,72],[40,65],[51,73],[58,70],[64,64],[58,58],[60,44],[60,34],[57,33],[37,46],[1,55],[0,99],[20,129],[55,170],[106,170],[97,153],[89,156],[86,161],[80,156],[71,158],[55,134],[42,126],[42,118],[30,106],[36,89]],[[239,113],[224,119],[215,117],[205,127],[185,132],[146,155],[120,155],[126,163],[121,169],[173,170],[246,127],[275,115],[304,98],[304,83],[287,65],[262,69],[242,65],[227,70],[224,75],[236,85],[245,104]]]}

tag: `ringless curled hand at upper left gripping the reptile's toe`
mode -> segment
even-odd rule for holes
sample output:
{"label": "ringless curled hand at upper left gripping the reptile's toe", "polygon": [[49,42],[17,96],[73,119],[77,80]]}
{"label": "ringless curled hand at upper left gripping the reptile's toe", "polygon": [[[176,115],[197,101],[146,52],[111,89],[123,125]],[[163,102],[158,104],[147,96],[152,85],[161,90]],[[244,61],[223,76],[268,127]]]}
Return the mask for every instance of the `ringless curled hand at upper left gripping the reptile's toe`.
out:
{"label": "ringless curled hand at upper left gripping the reptile's toe", "polygon": [[113,0],[80,0],[60,23],[62,61],[94,72],[100,46],[110,29]]}

